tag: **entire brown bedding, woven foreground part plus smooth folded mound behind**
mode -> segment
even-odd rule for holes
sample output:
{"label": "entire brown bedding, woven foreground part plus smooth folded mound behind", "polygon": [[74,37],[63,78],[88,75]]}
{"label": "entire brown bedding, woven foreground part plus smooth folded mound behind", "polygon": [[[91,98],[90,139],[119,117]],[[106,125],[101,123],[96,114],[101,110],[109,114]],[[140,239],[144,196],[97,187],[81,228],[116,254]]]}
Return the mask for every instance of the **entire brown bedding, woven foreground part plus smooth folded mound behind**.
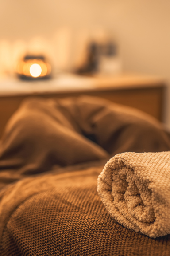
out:
{"label": "entire brown bedding, woven foreground part plus smooth folded mound behind", "polygon": [[1,255],[169,255],[169,236],[122,227],[97,194],[112,156],[168,150],[161,124],[138,110],[88,96],[26,100],[0,146]]}

